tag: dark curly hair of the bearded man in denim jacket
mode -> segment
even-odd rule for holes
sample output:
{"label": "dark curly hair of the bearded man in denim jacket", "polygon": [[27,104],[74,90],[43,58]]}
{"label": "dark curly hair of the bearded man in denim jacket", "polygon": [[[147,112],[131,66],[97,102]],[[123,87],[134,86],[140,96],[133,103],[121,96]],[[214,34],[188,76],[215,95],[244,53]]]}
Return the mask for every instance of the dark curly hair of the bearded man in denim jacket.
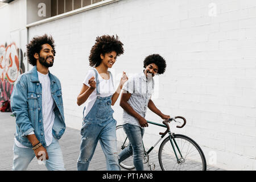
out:
{"label": "dark curly hair of the bearded man in denim jacket", "polygon": [[29,44],[27,44],[27,58],[28,63],[35,66],[36,65],[36,59],[34,57],[35,53],[40,53],[42,49],[43,44],[49,44],[54,52],[55,56],[55,44],[52,36],[48,36],[47,34],[44,34],[43,36],[35,36]]}

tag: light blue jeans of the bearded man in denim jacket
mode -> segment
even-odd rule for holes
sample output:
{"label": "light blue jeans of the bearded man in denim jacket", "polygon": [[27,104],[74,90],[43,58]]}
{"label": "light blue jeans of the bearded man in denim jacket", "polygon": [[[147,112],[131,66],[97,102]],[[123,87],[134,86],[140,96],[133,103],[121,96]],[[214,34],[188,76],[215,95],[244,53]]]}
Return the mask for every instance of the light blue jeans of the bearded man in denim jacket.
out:
{"label": "light blue jeans of the bearded man in denim jacket", "polygon": [[[65,171],[63,155],[60,149],[59,141],[52,137],[52,143],[46,147],[49,159],[45,161],[49,171]],[[32,148],[20,148],[14,144],[13,148],[14,160],[13,171],[24,171],[28,164],[35,157],[35,152]],[[41,163],[42,164],[42,163]]]}

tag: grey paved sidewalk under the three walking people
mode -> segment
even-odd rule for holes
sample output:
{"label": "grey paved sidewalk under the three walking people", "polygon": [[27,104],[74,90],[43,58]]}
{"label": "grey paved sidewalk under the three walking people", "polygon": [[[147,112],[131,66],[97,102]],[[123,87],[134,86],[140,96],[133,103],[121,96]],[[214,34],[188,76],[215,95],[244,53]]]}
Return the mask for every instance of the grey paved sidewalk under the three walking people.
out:
{"label": "grey paved sidewalk under the three walking people", "polygon": [[[0,113],[0,171],[11,170],[13,166],[13,144],[14,144],[14,132],[15,132],[15,117],[11,117],[11,113]],[[60,147],[63,151],[63,158],[65,163],[65,169],[68,171],[77,170],[77,158],[79,157],[81,135],[79,130],[68,128],[66,129],[63,137],[60,139]],[[155,163],[155,169],[161,170],[158,162],[158,154],[154,152],[150,153],[150,163]],[[121,168],[122,171],[126,169]],[[147,164],[144,164],[144,169],[147,171],[150,168]],[[46,166],[38,164],[36,158],[32,160],[28,166],[28,171],[45,171]],[[90,162],[89,170],[104,171],[106,170],[105,155],[101,150],[100,144],[97,145],[96,151]],[[222,170],[215,167],[207,167],[209,171]]]}

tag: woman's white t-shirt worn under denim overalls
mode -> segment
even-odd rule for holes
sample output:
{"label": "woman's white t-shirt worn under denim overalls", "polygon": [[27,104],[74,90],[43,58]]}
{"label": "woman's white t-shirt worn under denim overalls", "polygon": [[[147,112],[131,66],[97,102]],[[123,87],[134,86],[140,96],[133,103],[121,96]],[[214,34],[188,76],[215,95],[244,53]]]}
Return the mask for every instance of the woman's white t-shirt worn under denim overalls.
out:
{"label": "woman's white t-shirt worn under denim overalls", "polygon": [[[95,68],[93,68],[93,69],[95,69]],[[95,69],[95,70],[97,71],[97,69]],[[98,73],[98,71],[97,71],[97,73]],[[90,85],[88,84],[88,81],[93,76],[94,76],[94,81],[96,82],[95,72],[92,69],[90,69],[84,79],[83,84],[90,87]],[[98,73],[98,80],[100,82],[100,95],[99,95],[100,97],[112,96],[115,93],[115,88],[113,86],[111,77],[109,78],[109,80],[104,80]],[[85,102],[84,117],[89,113],[90,109],[92,109],[92,107],[97,99],[97,91],[96,90],[97,89],[95,88],[93,90],[92,94],[90,94],[90,96],[88,97],[88,99]]]}

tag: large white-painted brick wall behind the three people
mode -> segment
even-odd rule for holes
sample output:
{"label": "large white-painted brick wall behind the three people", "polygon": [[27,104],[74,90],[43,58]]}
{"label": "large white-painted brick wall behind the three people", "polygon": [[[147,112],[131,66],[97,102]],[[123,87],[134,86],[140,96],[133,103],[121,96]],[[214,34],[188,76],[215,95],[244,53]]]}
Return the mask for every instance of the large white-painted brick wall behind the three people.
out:
{"label": "large white-painted brick wall behind the three people", "polygon": [[[210,3],[216,4],[216,16],[208,15]],[[167,70],[159,76],[154,102],[163,113],[187,118],[175,133],[195,139],[208,162],[216,152],[217,167],[256,170],[255,10],[254,0],[121,0],[31,27],[29,38],[48,33],[55,39],[51,71],[62,82],[69,127],[81,127],[83,106],[76,97],[96,36],[117,34],[125,54],[112,69],[115,75],[140,72],[144,57],[160,53]],[[114,117],[121,123],[118,103]],[[146,118],[161,121],[149,110]],[[145,136],[157,136],[155,129],[148,127]]]}

